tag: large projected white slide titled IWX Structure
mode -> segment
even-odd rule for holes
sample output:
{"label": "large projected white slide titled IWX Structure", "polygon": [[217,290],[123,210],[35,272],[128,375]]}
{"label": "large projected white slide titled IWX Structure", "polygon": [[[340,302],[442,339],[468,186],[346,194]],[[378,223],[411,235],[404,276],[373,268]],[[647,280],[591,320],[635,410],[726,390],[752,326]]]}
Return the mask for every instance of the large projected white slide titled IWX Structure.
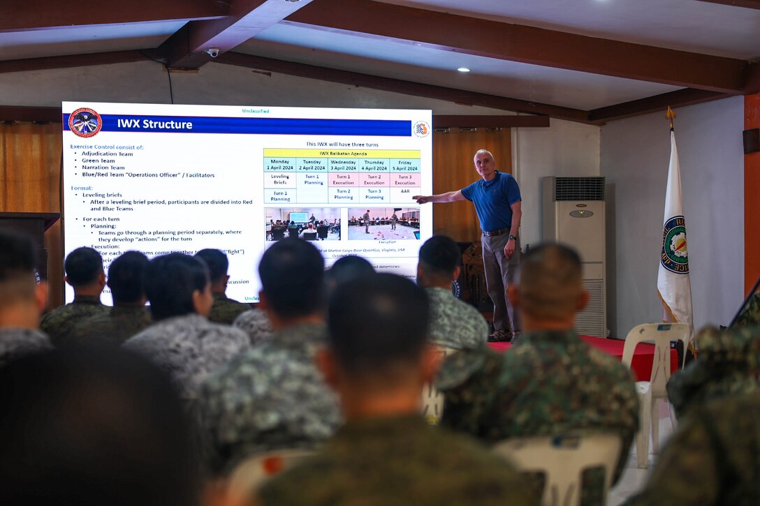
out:
{"label": "large projected white slide titled IWX Structure", "polygon": [[[95,248],[149,258],[217,248],[227,294],[258,302],[264,250],[314,241],[331,265],[345,255],[416,275],[432,235],[432,113],[65,102],[65,255]],[[66,286],[66,302],[74,299]],[[103,303],[111,304],[106,288]]]}

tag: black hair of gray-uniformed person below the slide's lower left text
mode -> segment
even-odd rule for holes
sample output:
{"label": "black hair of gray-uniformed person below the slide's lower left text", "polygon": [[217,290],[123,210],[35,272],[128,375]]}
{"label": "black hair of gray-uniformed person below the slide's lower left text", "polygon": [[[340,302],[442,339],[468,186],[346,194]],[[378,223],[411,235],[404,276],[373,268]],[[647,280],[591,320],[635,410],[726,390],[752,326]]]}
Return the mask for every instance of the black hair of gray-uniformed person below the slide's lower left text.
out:
{"label": "black hair of gray-uniformed person below the slide's lower left text", "polygon": [[203,291],[208,268],[200,258],[183,253],[156,257],[145,269],[145,295],[155,321],[195,312],[192,294]]}

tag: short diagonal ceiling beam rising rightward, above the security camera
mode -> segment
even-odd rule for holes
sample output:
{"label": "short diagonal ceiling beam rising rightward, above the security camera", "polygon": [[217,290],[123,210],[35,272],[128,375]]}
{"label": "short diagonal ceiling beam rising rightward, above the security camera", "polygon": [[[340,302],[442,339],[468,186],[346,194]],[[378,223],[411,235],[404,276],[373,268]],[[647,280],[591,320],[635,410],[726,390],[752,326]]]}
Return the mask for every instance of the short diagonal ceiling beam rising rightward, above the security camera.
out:
{"label": "short diagonal ceiling beam rising rightward, above the security camera", "polygon": [[207,53],[214,49],[223,54],[252,39],[258,33],[277,24],[312,0],[235,0],[230,14],[209,21],[191,21],[159,48],[169,68],[200,68],[213,58]]}

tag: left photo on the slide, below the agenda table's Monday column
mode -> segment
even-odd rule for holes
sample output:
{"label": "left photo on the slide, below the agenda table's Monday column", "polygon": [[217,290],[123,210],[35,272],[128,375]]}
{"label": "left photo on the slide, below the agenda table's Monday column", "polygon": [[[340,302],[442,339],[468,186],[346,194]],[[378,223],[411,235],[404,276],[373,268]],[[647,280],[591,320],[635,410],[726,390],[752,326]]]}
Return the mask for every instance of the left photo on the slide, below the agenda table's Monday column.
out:
{"label": "left photo on the slide, below the agenda table's Monday column", "polygon": [[340,207],[268,207],[268,241],[298,237],[306,241],[340,241]]}

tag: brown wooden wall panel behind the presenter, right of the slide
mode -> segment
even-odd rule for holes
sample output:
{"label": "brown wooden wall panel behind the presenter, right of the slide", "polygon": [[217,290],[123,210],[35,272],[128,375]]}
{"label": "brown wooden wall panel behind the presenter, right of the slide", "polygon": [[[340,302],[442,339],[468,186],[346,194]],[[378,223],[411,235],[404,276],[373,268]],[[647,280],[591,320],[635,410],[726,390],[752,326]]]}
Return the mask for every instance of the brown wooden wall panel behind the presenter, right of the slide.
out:
{"label": "brown wooden wall panel behind the presenter, right of the slide", "polygon": [[[479,149],[493,153],[496,168],[512,172],[511,134],[509,128],[477,128],[448,133],[434,132],[432,139],[432,191],[434,194],[459,190],[480,178],[473,157]],[[454,241],[480,241],[480,222],[469,201],[432,204],[433,233]]]}

